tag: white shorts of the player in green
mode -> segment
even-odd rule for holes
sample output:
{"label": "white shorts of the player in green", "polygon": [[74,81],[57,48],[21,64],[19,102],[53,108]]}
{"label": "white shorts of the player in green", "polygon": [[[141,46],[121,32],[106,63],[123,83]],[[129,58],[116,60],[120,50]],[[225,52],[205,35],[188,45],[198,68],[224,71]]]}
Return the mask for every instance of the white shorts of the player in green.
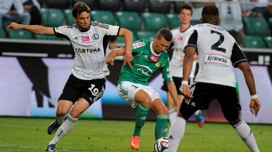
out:
{"label": "white shorts of the player in green", "polygon": [[119,96],[123,100],[128,102],[133,108],[139,105],[139,103],[134,100],[134,96],[135,96],[135,93],[141,89],[149,94],[151,98],[151,102],[153,102],[157,98],[160,98],[160,95],[156,91],[154,91],[152,87],[141,85],[138,83],[123,81],[117,85],[117,88],[118,88],[117,90],[118,90]]}

